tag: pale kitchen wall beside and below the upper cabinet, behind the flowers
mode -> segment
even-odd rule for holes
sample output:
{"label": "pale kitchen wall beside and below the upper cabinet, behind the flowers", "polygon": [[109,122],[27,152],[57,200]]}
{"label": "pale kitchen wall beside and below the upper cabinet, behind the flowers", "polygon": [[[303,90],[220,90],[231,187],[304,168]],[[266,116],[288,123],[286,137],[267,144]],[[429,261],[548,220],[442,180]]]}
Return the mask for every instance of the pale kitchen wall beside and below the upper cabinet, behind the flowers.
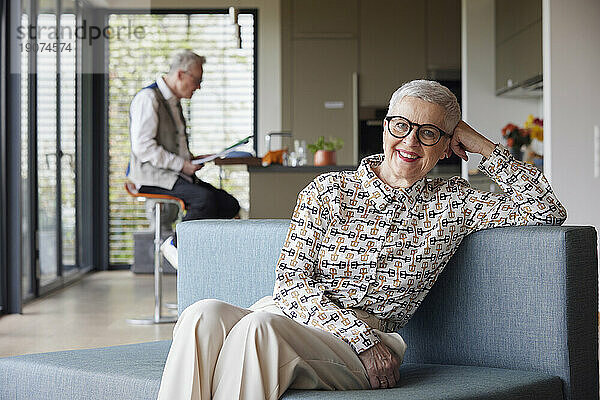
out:
{"label": "pale kitchen wall beside and below the upper cabinet, behind the flowers", "polygon": [[[463,119],[484,136],[504,144],[501,129],[509,122],[522,126],[527,116],[540,116],[540,99],[510,99],[495,95],[494,0],[462,0]],[[540,116],[541,117],[541,116]],[[481,156],[463,162],[463,177],[476,170]]]}

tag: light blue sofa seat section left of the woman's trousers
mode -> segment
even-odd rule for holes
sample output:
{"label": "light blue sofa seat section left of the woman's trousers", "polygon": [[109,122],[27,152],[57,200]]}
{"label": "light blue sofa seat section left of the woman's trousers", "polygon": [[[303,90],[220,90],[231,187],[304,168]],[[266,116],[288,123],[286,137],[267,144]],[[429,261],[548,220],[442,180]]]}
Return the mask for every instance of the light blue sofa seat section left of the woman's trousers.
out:
{"label": "light blue sofa seat section left of the woman's trousers", "polygon": [[0,399],[155,399],[170,345],[166,340],[1,358]]}

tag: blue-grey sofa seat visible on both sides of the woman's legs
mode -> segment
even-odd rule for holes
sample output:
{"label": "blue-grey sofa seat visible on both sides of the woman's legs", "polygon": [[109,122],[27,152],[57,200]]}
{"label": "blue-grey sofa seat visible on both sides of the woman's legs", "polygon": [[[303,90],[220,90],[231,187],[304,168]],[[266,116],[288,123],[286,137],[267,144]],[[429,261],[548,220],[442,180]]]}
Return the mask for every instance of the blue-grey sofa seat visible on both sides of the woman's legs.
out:
{"label": "blue-grey sofa seat visible on both sides of the woman's legs", "polygon": [[[154,399],[170,341],[0,359],[2,399]],[[405,364],[402,386],[353,392],[289,391],[293,399],[562,399],[557,377],[496,368]]]}

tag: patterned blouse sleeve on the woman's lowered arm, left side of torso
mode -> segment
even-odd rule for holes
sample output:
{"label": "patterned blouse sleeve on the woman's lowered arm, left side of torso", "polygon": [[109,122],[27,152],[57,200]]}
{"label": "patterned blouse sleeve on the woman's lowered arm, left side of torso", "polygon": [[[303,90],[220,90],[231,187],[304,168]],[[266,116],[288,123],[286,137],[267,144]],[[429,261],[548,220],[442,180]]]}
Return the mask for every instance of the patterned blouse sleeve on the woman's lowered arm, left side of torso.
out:
{"label": "patterned blouse sleeve on the woman's lowered arm, left side of torso", "polygon": [[313,181],[298,195],[277,261],[273,298],[288,317],[330,332],[361,353],[379,343],[376,333],[352,310],[331,301],[315,277],[328,220],[328,208],[319,200]]}

